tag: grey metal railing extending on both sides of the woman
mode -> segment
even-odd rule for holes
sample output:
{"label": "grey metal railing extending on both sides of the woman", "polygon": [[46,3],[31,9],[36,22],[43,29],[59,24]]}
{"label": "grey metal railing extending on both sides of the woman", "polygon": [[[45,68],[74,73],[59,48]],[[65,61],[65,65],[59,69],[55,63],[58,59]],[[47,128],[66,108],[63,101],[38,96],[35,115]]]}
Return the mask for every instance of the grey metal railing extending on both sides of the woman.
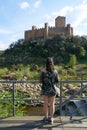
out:
{"label": "grey metal railing extending on both sides of the woman", "polygon": [[[15,91],[16,91],[16,88],[15,88],[15,84],[23,84],[23,83],[33,83],[33,84],[35,84],[35,83],[40,83],[40,81],[39,80],[0,80],[0,84],[4,84],[4,83],[10,83],[11,84],[11,89],[12,89],[12,97],[10,97],[10,98],[0,98],[0,100],[12,100],[12,111],[13,111],[13,116],[15,116],[16,115],[16,110],[15,110],[15,101],[16,100],[22,100],[23,98],[15,98]],[[64,97],[64,100],[63,100],[63,95],[62,95],[62,93],[63,93],[63,84],[65,84],[65,83],[80,83],[81,85],[80,85],[80,89],[78,90],[78,92],[76,92],[76,93],[74,93],[73,95],[71,95],[70,97],[68,97],[68,99],[67,98],[65,98]],[[64,105],[64,104],[67,104],[67,102],[69,101],[69,100],[71,100],[71,99],[73,99],[74,97],[75,97],[75,95],[78,95],[78,94],[80,94],[80,96],[82,96],[82,91],[83,91],[83,89],[86,87],[83,87],[83,83],[87,83],[87,80],[60,80],[59,81],[59,87],[60,87],[60,97],[58,97],[59,98],[59,109],[60,109],[60,115],[61,115],[61,112],[62,112],[62,106]],[[27,99],[27,98],[26,98]],[[38,100],[38,99],[32,99],[32,100]]]}

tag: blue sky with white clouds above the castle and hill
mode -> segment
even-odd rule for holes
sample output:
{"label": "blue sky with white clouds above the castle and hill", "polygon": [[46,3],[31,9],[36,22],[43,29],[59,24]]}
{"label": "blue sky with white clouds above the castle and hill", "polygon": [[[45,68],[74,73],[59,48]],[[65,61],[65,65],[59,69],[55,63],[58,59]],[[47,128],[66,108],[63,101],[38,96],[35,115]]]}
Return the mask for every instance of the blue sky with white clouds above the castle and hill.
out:
{"label": "blue sky with white clouds above the castle and hill", "polygon": [[33,25],[54,27],[58,16],[66,17],[74,35],[87,35],[87,0],[0,0],[0,50],[24,39]]}

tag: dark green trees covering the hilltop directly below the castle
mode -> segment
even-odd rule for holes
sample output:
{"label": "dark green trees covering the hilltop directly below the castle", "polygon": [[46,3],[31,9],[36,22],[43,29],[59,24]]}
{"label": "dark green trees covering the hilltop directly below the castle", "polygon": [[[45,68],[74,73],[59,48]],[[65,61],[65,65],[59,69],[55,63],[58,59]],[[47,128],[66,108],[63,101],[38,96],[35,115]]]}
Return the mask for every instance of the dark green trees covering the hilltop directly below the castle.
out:
{"label": "dark green trees covering the hilltop directly below the castle", "polygon": [[[69,62],[70,56],[78,60],[87,57],[87,37],[57,35],[47,40],[24,41],[12,43],[0,57],[4,64],[40,64],[48,56],[54,57],[60,63]],[[42,61],[41,61],[42,60]]]}

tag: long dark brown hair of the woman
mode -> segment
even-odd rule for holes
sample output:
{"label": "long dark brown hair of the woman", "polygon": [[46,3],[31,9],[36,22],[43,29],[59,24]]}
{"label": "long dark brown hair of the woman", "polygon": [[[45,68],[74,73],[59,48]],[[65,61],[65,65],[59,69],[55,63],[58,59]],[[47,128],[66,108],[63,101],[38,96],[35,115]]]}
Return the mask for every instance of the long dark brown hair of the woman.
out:
{"label": "long dark brown hair of the woman", "polygon": [[54,70],[54,61],[52,57],[48,57],[46,60],[46,70],[49,72]]}

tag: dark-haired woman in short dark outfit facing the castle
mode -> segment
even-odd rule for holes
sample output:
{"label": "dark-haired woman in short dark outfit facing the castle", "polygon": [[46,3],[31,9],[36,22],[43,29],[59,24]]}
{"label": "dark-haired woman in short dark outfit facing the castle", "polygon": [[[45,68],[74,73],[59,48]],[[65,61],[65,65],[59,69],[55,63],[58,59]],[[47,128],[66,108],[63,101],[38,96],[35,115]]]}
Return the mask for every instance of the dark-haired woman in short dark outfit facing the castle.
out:
{"label": "dark-haired woman in short dark outfit facing the castle", "polygon": [[[44,121],[50,121],[53,124],[54,121],[54,111],[55,111],[55,96],[56,92],[56,83],[58,83],[59,77],[58,72],[54,69],[53,58],[48,57],[46,60],[46,68],[41,71],[41,83],[42,90],[41,94],[44,99]],[[48,119],[48,106],[50,112],[50,120]]]}

